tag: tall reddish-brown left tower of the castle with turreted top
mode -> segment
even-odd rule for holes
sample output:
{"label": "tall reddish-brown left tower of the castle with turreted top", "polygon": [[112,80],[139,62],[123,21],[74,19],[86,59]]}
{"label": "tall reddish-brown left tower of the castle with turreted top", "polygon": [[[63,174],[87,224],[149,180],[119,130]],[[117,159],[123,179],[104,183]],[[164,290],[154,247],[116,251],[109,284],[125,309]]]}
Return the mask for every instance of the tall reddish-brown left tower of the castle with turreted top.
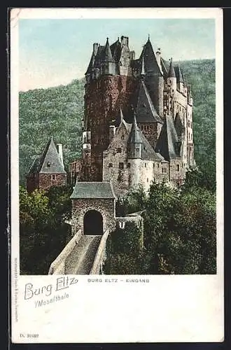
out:
{"label": "tall reddish-brown left tower of the castle with turreted top", "polygon": [[94,44],[92,52],[94,59],[91,58],[85,73],[84,124],[87,120],[88,130],[85,131],[90,132],[90,170],[89,176],[84,178],[85,181],[102,181],[102,158],[110,143],[112,132],[110,126],[113,125],[120,108],[126,113],[130,105],[130,96],[134,91],[135,80],[129,75],[130,69],[128,69],[130,66],[128,38],[123,36],[121,40],[121,43],[118,39],[111,46],[109,38],[106,39],[104,46]]}

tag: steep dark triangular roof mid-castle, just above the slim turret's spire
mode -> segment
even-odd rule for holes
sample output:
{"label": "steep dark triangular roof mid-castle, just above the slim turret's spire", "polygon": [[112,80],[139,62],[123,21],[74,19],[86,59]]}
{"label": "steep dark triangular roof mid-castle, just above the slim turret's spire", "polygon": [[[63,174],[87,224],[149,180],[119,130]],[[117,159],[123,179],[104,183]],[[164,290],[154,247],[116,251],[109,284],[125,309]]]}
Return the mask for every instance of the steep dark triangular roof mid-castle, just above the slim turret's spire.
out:
{"label": "steep dark triangular roof mid-castle, just above the slim turret's spire", "polygon": [[158,116],[153,102],[148,93],[148,89],[143,80],[139,87],[138,101],[137,101],[137,122],[138,123],[160,123],[162,119]]}

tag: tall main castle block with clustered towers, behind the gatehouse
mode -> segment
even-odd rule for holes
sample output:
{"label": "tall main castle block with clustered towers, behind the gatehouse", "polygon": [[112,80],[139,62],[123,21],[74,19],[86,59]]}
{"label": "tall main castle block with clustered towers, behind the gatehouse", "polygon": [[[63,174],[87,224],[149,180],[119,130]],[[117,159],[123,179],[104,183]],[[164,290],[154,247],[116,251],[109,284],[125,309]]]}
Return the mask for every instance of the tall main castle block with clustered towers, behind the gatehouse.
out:
{"label": "tall main castle block with clustered towers, behind the gatehouse", "polygon": [[116,196],[152,182],[181,185],[195,165],[193,97],[180,66],[169,67],[150,38],[135,59],[129,38],[93,44],[85,73],[82,158],[73,183],[109,181]]}

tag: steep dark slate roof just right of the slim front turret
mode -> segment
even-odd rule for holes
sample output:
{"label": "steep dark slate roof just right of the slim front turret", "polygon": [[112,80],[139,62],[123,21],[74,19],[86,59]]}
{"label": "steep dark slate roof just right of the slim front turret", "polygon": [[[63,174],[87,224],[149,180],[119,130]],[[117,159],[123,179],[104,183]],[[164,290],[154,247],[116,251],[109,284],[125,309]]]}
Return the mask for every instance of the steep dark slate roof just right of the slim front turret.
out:
{"label": "steep dark slate roof just right of the slim front turret", "polygon": [[160,153],[165,160],[179,158],[180,154],[177,151],[179,148],[176,145],[179,139],[176,134],[172,116],[165,117],[165,123],[162,126],[158,142],[155,146],[155,152]]}

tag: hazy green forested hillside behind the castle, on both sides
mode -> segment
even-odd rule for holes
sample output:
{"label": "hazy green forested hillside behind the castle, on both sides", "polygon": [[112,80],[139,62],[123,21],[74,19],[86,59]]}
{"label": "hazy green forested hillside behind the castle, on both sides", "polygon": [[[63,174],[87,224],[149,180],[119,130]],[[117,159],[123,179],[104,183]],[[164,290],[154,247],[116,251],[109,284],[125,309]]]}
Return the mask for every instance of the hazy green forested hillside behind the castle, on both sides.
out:
{"label": "hazy green forested hillside behind the castle, on both sides", "polygon": [[[215,61],[181,62],[194,100],[194,141],[197,165],[215,183]],[[48,137],[64,146],[64,162],[80,155],[84,80],[69,85],[20,92],[20,184]]]}

